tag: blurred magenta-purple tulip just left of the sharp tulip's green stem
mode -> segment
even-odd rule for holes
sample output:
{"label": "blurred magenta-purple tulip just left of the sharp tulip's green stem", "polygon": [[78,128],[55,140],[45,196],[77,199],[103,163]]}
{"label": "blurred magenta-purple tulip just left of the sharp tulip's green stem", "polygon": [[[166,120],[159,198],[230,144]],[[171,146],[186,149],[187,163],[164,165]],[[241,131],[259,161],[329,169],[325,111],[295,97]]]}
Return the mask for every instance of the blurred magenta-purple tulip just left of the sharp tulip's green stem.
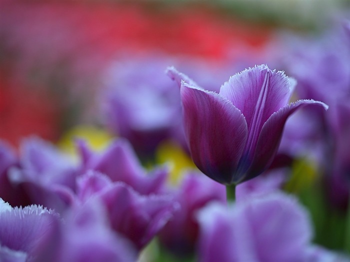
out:
{"label": "blurred magenta-purple tulip just left of the sharp tulip's green stem", "polygon": [[180,208],[159,233],[162,246],[177,257],[192,254],[199,234],[196,212],[211,201],[225,203],[225,198],[224,186],[200,173],[186,174],[175,192]]}

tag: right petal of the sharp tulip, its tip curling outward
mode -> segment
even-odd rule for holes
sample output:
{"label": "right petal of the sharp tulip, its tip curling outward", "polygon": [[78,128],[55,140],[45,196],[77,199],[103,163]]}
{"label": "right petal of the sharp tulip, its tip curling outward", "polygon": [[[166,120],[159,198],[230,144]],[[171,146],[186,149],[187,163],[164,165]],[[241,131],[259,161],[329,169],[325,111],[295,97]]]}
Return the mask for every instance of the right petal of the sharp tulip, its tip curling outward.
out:
{"label": "right petal of the sharp tulip, its tip curling outward", "polygon": [[326,104],[319,101],[298,100],[273,113],[261,129],[256,143],[255,154],[250,169],[247,171],[247,176],[239,182],[256,177],[268,168],[278,150],[287,118],[297,109],[306,105],[318,105],[323,106],[325,110],[328,109]]}

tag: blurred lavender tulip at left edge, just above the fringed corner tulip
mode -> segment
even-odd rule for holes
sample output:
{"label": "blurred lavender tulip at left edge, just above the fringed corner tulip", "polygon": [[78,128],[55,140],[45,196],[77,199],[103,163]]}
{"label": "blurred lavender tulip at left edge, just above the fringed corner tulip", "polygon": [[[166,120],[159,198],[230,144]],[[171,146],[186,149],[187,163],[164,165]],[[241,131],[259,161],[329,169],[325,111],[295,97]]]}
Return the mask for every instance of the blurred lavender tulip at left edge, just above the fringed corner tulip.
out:
{"label": "blurred lavender tulip at left edge, just above the fringed corner tulip", "polygon": [[74,201],[78,168],[50,143],[37,137],[24,140],[16,163],[1,174],[7,185],[1,196],[12,205],[36,204],[61,212]]}

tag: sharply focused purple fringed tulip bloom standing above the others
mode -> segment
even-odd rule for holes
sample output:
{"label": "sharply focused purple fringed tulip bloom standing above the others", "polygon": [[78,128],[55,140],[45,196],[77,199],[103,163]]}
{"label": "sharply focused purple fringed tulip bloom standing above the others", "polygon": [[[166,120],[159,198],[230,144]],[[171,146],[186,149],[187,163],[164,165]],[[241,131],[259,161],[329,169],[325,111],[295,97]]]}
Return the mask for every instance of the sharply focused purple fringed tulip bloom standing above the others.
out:
{"label": "sharply focused purple fringed tulip bloom standing above the others", "polygon": [[[174,68],[168,74],[182,79]],[[192,81],[191,81],[192,82]],[[184,129],[195,165],[208,177],[238,184],[258,176],[276,154],[287,118],[314,100],[288,104],[295,81],[266,65],[230,77],[220,92],[181,81]]]}

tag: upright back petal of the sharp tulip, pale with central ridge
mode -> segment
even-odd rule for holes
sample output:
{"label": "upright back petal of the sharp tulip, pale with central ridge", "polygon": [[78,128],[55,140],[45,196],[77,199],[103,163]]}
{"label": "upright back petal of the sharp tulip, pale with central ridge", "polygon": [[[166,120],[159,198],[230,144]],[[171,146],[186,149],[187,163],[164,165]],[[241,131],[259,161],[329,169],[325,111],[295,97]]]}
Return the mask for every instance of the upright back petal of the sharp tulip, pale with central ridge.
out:
{"label": "upright back petal of the sharp tulip, pale with central ridge", "polygon": [[248,138],[244,155],[248,159],[254,154],[262,125],[288,103],[294,84],[282,71],[259,65],[235,74],[221,86],[219,94],[230,100],[246,119]]}

